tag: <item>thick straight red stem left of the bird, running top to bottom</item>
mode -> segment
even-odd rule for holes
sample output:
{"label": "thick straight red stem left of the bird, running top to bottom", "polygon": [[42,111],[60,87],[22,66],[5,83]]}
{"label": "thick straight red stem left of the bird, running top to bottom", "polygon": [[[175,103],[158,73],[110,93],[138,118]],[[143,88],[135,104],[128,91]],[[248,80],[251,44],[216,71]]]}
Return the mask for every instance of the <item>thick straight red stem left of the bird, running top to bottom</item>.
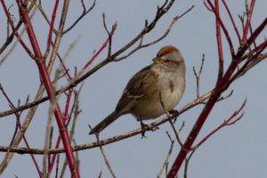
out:
{"label": "thick straight red stem left of the bird, running top to bottom", "polygon": [[55,109],[54,109],[53,113],[54,113],[54,116],[56,118],[56,121],[57,121],[57,124],[59,127],[59,132],[61,134],[61,139],[63,142],[64,149],[66,150],[66,157],[67,157],[68,162],[69,162],[69,169],[71,171],[72,177],[77,178],[77,177],[79,177],[79,172],[77,169],[76,159],[74,157],[74,154],[73,154],[73,151],[71,148],[71,144],[69,141],[69,134],[68,134],[68,131],[64,125],[64,119],[63,119],[63,116],[61,113],[61,108],[60,108],[59,104],[57,103],[54,92],[53,92],[53,85],[52,85],[51,79],[49,77],[49,74],[47,73],[44,59],[43,59],[43,55],[40,51],[40,47],[37,43],[35,31],[31,25],[30,20],[28,19],[27,8],[23,5],[21,0],[17,0],[17,4],[19,6],[21,19],[24,22],[24,24],[26,25],[26,30],[28,33],[28,38],[29,38],[30,44],[32,45],[32,48],[33,48],[34,53],[35,53],[36,58],[37,58],[36,64],[37,64],[37,67],[39,69],[39,73],[43,79],[46,93],[48,94],[51,103],[55,104]]}

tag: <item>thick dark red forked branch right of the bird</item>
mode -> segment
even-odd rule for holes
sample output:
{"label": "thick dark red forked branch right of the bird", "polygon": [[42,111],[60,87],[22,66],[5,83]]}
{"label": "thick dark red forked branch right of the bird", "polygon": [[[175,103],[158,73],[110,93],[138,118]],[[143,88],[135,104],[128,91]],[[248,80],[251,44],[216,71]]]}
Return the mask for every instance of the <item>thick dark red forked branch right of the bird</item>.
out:
{"label": "thick dark red forked branch right of the bird", "polygon": [[[220,26],[223,28],[224,35],[228,39],[228,42],[231,46],[230,49],[232,50],[233,46],[231,44],[231,38],[228,34],[228,31],[223,25],[223,21],[221,20],[219,14],[215,11],[214,5],[211,4],[210,0],[207,0],[207,2],[211,6],[214,14],[216,15],[216,18],[219,21]],[[198,119],[195,125],[193,126],[192,130],[190,131],[190,134],[187,137],[187,140],[184,142],[182,149],[180,150],[177,157],[175,158],[174,164],[170,172],[167,174],[167,178],[174,178],[177,175],[180,167],[182,166],[182,162],[186,158],[187,153],[191,150],[191,146],[193,142],[196,140],[198,133],[200,132],[200,129],[202,128],[202,126],[204,125],[206,121],[206,118],[210,114],[211,110],[214,108],[216,101],[218,101],[219,97],[221,96],[221,93],[223,93],[223,91],[225,91],[230,85],[229,81],[231,80],[231,76],[234,74],[234,71],[237,69],[239,62],[241,62],[243,55],[246,53],[249,46],[255,41],[256,37],[262,33],[266,24],[267,24],[267,20],[265,19],[263,20],[262,24],[260,24],[259,27],[255,29],[255,32],[251,34],[251,36],[248,38],[247,45],[241,44],[237,54],[231,51],[231,55],[233,57],[231,64],[229,65],[222,79],[214,86],[214,90],[212,91],[212,94],[209,100],[206,102],[206,105],[204,109],[202,109],[200,115],[198,116]],[[263,49],[259,49],[258,51],[261,51],[261,50]]]}

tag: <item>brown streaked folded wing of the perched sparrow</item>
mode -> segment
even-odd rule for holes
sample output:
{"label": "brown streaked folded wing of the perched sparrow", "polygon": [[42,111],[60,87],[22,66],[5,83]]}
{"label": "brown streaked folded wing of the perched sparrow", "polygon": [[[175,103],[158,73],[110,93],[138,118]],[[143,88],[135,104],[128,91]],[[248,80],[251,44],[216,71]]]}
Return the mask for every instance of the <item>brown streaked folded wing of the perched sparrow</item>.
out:
{"label": "brown streaked folded wing of the perched sparrow", "polygon": [[154,93],[157,90],[157,77],[156,72],[151,70],[151,66],[137,72],[126,85],[125,91],[117,103],[117,111],[126,112],[143,98]]}

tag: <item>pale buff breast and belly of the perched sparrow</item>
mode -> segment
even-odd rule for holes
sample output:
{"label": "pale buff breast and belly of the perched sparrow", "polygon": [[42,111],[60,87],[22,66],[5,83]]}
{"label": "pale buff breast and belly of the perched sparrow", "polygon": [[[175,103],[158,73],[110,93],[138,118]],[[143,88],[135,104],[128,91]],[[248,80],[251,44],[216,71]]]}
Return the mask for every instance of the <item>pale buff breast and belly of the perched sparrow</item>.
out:
{"label": "pale buff breast and belly of the perched sparrow", "polygon": [[178,72],[158,72],[155,71],[157,79],[153,85],[150,85],[153,90],[142,98],[138,104],[131,109],[131,114],[137,120],[146,120],[159,117],[165,114],[166,111],[174,109],[182,98],[182,93],[185,88],[184,75]]}

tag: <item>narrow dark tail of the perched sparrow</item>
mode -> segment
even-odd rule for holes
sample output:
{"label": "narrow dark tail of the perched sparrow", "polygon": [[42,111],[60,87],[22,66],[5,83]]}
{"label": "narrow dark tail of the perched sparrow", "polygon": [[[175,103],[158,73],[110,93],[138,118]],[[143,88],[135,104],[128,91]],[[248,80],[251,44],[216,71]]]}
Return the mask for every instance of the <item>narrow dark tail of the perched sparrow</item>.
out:
{"label": "narrow dark tail of the perched sparrow", "polygon": [[108,117],[104,118],[98,125],[94,126],[92,131],[89,134],[99,134],[102,130],[104,130],[107,126],[113,123],[117,117],[120,117],[120,114],[117,111],[109,114]]}

